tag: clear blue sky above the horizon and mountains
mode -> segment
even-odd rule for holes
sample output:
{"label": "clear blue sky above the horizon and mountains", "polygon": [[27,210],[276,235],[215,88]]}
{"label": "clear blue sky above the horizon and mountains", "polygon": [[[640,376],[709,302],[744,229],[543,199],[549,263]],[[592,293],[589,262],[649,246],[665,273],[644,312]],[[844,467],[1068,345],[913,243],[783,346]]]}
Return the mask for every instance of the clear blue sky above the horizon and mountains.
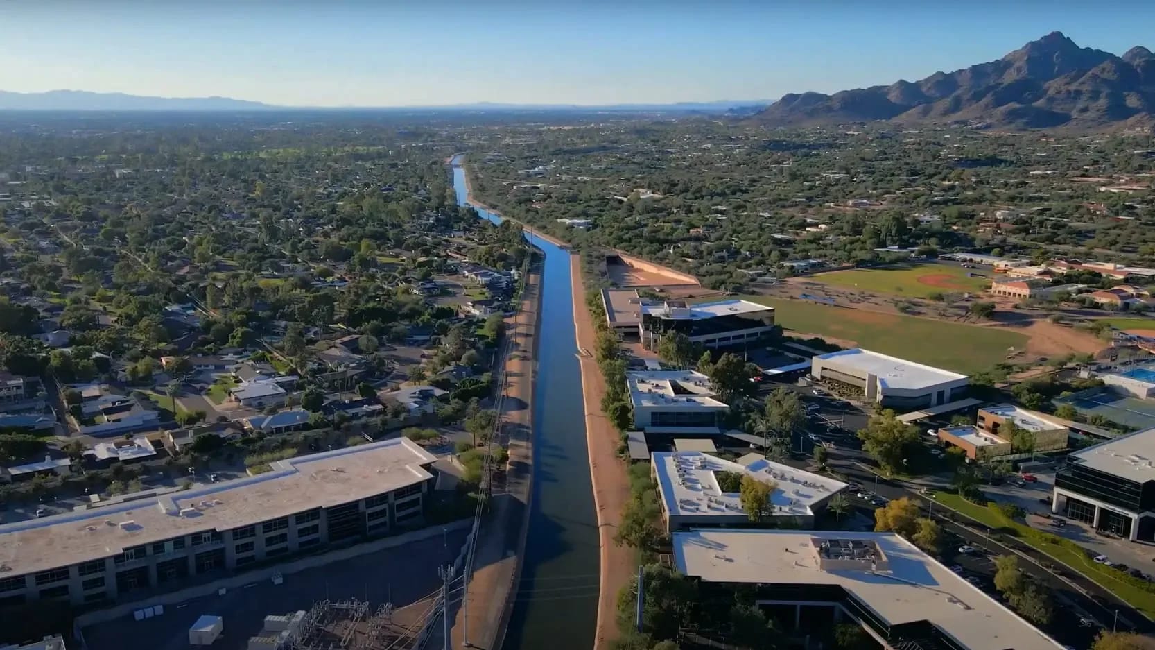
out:
{"label": "clear blue sky above the horizon and mountains", "polygon": [[1053,30],[1155,50],[1153,27],[1155,2],[1132,0],[8,0],[0,90],[314,106],[776,98],[916,80]]}

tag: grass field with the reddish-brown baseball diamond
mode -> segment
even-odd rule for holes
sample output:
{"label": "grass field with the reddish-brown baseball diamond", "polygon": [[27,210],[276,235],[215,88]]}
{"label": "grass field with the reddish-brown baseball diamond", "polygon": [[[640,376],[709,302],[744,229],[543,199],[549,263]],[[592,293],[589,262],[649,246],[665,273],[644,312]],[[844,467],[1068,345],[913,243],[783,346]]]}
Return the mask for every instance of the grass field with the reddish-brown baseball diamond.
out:
{"label": "grass field with the reddish-brown baseball diamond", "polygon": [[968,269],[941,264],[917,264],[893,268],[849,268],[806,278],[807,281],[925,298],[933,293],[982,291],[991,286],[986,278],[967,278]]}

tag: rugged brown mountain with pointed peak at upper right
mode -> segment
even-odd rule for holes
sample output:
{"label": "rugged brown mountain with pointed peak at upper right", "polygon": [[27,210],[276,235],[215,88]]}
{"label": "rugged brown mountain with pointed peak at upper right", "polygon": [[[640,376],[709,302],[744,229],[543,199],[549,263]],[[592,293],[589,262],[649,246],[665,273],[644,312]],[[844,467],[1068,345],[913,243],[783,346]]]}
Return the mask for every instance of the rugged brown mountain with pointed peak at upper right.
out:
{"label": "rugged brown mountain with pointed peak at upper right", "polygon": [[1001,128],[1103,128],[1155,124],[1155,54],[1123,57],[1051,32],[997,61],[917,82],[834,95],[785,95],[754,119],[769,126],[873,120],[982,123]]}

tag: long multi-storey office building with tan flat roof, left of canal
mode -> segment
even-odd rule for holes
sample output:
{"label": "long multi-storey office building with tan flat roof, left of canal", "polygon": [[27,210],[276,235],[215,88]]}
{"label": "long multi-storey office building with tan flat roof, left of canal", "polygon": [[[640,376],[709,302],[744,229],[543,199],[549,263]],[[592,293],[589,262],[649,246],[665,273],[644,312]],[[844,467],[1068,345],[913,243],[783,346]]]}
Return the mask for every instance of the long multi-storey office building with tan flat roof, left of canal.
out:
{"label": "long multi-storey office building with tan flat roof, left of canal", "polygon": [[136,589],[420,523],[435,457],[397,438],[278,460],[255,477],[0,526],[0,606]]}

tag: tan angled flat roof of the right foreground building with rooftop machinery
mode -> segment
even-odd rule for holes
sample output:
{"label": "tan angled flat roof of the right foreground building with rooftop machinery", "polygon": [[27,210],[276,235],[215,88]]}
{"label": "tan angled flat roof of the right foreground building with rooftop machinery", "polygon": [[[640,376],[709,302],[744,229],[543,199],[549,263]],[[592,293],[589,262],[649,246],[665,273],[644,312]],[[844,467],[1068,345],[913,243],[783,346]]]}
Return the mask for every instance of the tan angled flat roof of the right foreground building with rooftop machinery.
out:
{"label": "tan angled flat roof of the right foreground building with rooftop machinery", "polygon": [[[857,541],[870,561],[820,567],[819,546]],[[707,582],[842,586],[888,626],[930,621],[973,650],[1063,647],[894,533],[698,530],[673,533],[677,569]]]}

